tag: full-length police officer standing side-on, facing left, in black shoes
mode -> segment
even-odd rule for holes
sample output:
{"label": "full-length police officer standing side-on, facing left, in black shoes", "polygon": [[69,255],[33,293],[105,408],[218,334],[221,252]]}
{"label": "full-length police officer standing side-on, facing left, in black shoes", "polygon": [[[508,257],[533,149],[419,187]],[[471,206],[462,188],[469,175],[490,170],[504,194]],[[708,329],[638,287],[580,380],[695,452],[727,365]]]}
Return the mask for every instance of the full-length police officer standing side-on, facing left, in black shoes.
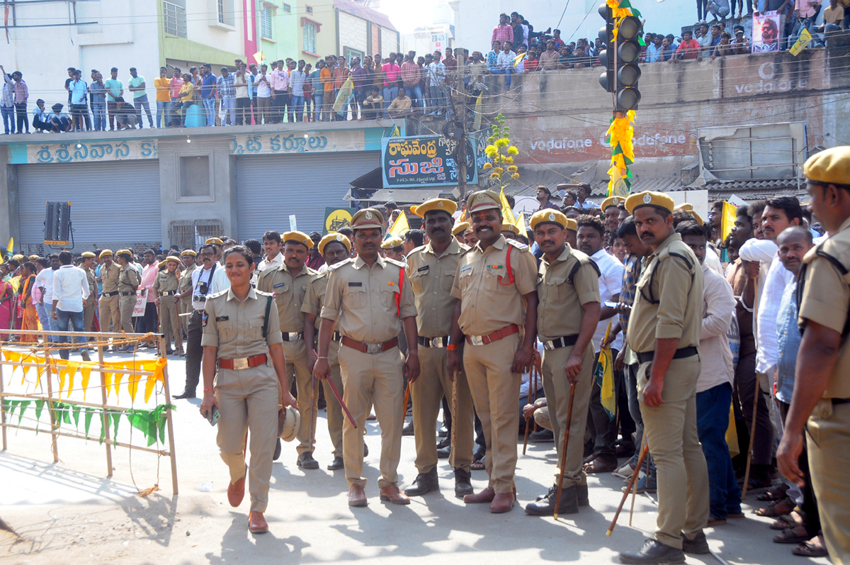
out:
{"label": "full-length police officer standing side-on, facing left, in black shoes", "polygon": [[661,192],[626,198],[644,261],[629,317],[629,345],[638,356],[643,433],[658,471],[658,528],[624,563],[683,562],[683,550],[708,553],[708,471],[696,425],[703,279],[700,262],[673,230],[673,200]]}

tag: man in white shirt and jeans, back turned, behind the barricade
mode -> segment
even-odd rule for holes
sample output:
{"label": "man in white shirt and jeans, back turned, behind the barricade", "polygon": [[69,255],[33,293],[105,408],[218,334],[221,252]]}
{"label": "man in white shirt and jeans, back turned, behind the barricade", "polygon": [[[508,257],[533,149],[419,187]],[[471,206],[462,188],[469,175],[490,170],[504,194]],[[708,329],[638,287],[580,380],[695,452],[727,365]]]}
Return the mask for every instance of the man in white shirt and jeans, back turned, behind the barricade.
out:
{"label": "man in white shirt and jeans, back turned, behind the barricade", "polygon": [[[82,301],[88,299],[91,290],[88,288],[88,277],[86,271],[79,267],[71,265],[74,255],[70,251],[63,251],[59,254],[59,269],[53,275],[52,294],[52,312],[51,319],[57,322],[57,327],[60,332],[69,331],[69,326],[72,326],[71,331],[85,331],[82,315]],[[85,343],[86,338],[74,336],[74,343]],[[67,335],[59,335],[56,340],[58,343],[67,343]],[[88,349],[80,350],[80,355],[83,361],[91,361],[88,357]],[[59,350],[59,357],[67,359],[68,350]]]}

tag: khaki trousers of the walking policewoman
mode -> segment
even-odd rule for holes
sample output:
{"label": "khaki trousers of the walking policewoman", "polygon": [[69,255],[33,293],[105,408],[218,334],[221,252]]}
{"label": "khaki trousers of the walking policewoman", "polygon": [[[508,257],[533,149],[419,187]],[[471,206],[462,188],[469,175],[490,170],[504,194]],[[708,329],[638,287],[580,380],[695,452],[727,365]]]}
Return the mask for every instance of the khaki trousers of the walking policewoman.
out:
{"label": "khaki trousers of the walking policewoman", "polygon": [[280,384],[271,360],[259,367],[218,369],[215,385],[218,400],[218,449],[230,471],[230,482],[246,475],[245,432],[251,461],[248,465],[248,492],[251,510],[264,512],[269,505],[272,455],[277,440],[277,412]]}

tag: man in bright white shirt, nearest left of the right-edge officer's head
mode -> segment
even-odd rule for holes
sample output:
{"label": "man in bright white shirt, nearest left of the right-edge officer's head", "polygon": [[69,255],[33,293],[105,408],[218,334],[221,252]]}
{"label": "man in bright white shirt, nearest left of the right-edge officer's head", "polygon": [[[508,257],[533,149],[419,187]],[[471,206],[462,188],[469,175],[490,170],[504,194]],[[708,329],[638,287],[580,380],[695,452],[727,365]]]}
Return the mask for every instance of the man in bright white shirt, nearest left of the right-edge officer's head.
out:
{"label": "man in bright white shirt, nearest left of the right-edge officer's head", "polygon": [[[769,264],[768,276],[764,279],[763,288],[759,288],[757,307],[757,353],[756,372],[762,391],[772,391],[774,388],[776,365],[778,360],[776,319],[779,313],[779,303],[788,283],[794,280],[791,271],[782,266],[777,254],[776,238],[790,225],[802,223],[802,208],[795,197],[777,197],[767,201],[762,212],[762,232],[764,239],[749,239],[741,246],[739,256],[745,261],[759,261]],[[774,402],[768,402],[772,408]],[[764,437],[767,435],[768,437]],[[762,434],[754,442],[752,465],[750,471],[750,488],[770,486],[769,472],[771,469],[772,448],[774,437],[772,433]],[[770,448],[758,448],[767,443]]]}

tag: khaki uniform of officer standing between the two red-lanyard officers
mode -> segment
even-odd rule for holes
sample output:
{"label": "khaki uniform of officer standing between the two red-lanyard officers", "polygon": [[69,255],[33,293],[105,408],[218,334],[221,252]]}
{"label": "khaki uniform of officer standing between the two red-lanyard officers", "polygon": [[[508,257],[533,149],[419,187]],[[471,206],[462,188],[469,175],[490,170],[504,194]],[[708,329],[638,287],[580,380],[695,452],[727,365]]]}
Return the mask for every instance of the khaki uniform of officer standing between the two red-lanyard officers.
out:
{"label": "khaki uniform of officer standing between the two red-lanyard officers", "polygon": [[[451,332],[451,317],[457,299],[451,296],[457,264],[467,251],[452,238],[449,247],[439,257],[428,243],[407,255],[407,276],[416,298],[416,330],[419,340],[419,378],[411,384],[413,400],[413,429],[416,435],[416,470],[428,473],[437,465],[437,414],[443,397],[452,404],[452,383],[446,362]],[[438,338],[434,340],[433,338]],[[433,346],[436,345],[436,346]],[[473,400],[465,374],[457,374],[456,414],[451,425],[455,442],[449,463],[455,469],[469,471],[473,464]]]}

